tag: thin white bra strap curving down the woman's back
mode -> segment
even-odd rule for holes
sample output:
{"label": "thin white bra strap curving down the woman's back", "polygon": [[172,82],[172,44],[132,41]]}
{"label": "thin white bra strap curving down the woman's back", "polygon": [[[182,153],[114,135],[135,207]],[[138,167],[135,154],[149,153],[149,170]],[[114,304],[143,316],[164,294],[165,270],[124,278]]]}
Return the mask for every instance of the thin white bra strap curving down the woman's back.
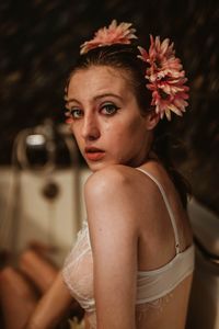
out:
{"label": "thin white bra strap curving down the woman's back", "polygon": [[149,173],[148,171],[146,171],[141,168],[137,168],[137,169],[140,170],[141,172],[143,172],[145,174],[147,174],[158,185],[158,188],[159,188],[159,190],[160,190],[160,192],[163,196],[163,201],[165,203],[165,206],[166,206],[166,209],[169,212],[171,223],[172,223],[172,226],[173,226],[173,231],[174,231],[174,237],[175,237],[175,250],[176,250],[176,253],[180,253],[180,239],[178,239],[177,227],[176,227],[176,224],[175,224],[175,218],[173,216],[173,212],[171,209],[170,203],[169,203],[168,197],[165,195],[165,191],[163,190],[163,186],[159,183],[159,181],[151,173]]}

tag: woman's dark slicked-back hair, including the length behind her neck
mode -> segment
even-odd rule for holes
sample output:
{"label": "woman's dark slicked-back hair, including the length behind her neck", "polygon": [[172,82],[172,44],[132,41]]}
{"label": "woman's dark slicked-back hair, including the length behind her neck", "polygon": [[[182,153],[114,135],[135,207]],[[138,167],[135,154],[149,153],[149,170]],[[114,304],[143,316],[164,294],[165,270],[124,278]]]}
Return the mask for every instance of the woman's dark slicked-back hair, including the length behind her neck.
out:
{"label": "woman's dark slicked-back hair, including the length behind her neck", "polygon": [[[134,45],[114,44],[112,46],[96,47],[81,55],[72,68],[66,84],[66,92],[71,77],[78,70],[88,69],[92,66],[107,66],[114,69],[120,69],[126,73],[128,82],[132,87],[142,115],[147,115],[150,111],[154,111],[151,106],[151,91],[146,87],[147,80],[145,78],[146,64],[137,56],[139,50]],[[187,194],[189,184],[183,175],[174,168],[171,159],[171,144],[174,140],[170,134],[170,123],[163,118],[154,128],[153,141],[151,149],[155,152],[159,160],[166,169],[176,190],[178,191],[182,204],[186,207]]]}

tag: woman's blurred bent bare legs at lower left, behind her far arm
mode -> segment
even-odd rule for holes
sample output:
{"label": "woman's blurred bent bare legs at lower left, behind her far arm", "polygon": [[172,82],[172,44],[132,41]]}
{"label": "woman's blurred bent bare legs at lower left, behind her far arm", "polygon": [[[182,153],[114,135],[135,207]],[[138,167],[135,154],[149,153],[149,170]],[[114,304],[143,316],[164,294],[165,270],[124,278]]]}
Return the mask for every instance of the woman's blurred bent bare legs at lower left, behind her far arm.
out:
{"label": "woman's blurred bent bare legs at lower left, behind her far arm", "polygon": [[[50,287],[58,274],[58,269],[33,249],[27,249],[20,256],[18,268],[18,271],[5,268],[0,273],[0,299],[5,329],[22,328],[38,298]],[[83,317],[83,310],[76,300],[72,300],[69,310],[69,317],[73,316],[79,319]],[[20,317],[19,321],[16,317]],[[62,325],[60,328],[66,328]]]}

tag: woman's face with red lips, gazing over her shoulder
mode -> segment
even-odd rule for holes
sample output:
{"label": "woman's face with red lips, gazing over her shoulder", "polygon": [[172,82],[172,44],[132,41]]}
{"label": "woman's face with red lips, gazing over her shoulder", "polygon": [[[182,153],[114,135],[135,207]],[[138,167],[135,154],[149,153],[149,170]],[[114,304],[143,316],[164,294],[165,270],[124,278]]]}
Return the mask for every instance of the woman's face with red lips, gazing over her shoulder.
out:
{"label": "woman's face with red lips, gazing over her shoulder", "polygon": [[80,69],[70,79],[70,128],[92,171],[110,164],[140,166],[147,158],[146,116],[128,73],[106,66]]}

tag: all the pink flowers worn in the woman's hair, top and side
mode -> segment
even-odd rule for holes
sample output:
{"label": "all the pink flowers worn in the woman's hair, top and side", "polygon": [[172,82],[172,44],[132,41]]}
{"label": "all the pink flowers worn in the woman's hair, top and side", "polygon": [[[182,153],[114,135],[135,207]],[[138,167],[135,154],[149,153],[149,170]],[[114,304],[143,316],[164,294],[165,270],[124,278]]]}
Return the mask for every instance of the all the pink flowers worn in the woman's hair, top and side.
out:
{"label": "all the pink flowers worn in the woman's hair, top and side", "polygon": [[[110,46],[113,44],[130,44],[136,30],[131,27],[131,23],[117,24],[115,20],[108,27],[100,29],[94,38],[81,45],[80,54],[89,50]],[[187,78],[181,64],[180,58],[175,57],[174,44],[170,44],[170,39],[165,38],[162,43],[160,36],[153,38],[150,35],[150,48],[147,52],[142,47],[138,47],[140,55],[138,58],[147,64],[146,79],[149,83],[146,87],[152,92],[151,105],[155,107],[155,113],[160,118],[164,115],[171,120],[171,112],[182,116],[185,107],[188,105],[189,88],[185,86]]]}

